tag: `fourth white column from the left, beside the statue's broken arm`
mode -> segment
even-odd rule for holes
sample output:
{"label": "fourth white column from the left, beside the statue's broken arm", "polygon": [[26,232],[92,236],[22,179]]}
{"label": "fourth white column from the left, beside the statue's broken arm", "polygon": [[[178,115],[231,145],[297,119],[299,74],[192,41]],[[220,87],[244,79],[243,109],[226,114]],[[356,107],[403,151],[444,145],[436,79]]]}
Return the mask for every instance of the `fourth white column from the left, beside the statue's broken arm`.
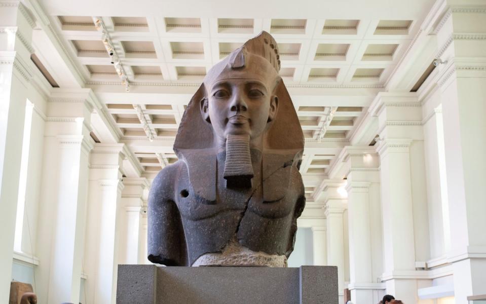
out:
{"label": "fourth white column from the left, beside the statue's broken arm", "polygon": [[124,178],[120,225],[120,264],[137,264],[140,244],[142,207],[146,206],[144,191],[148,189],[146,178]]}

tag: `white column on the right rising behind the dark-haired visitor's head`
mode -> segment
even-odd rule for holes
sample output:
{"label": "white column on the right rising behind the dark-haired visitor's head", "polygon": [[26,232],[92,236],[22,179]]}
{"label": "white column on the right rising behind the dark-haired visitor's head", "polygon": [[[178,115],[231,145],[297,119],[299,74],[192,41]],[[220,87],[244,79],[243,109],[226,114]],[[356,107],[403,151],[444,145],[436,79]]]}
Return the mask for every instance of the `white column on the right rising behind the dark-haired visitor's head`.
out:
{"label": "white column on the right rising behind the dark-haired visitor's head", "polygon": [[[405,302],[417,300],[415,279],[399,279],[394,271],[415,271],[414,218],[410,185],[411,140],[384,139],[379,147],[387,293]],[[399,181],[399,182],[398,182]]]}

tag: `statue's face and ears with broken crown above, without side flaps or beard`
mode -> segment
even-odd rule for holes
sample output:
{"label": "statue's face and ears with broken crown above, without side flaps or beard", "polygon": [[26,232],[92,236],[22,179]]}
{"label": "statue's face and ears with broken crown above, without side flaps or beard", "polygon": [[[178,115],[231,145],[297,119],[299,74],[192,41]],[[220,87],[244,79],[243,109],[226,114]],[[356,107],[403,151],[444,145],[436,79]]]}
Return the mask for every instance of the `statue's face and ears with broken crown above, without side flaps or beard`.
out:
{"label": "statue's face and ears with broken crown above, without side flaps or beard", "polygon": [[275,89],[281,81],[278,58],[277,44],[263,32],[209,71],[201,114],[220,140],[242,134],[258,138],[275,119]]}

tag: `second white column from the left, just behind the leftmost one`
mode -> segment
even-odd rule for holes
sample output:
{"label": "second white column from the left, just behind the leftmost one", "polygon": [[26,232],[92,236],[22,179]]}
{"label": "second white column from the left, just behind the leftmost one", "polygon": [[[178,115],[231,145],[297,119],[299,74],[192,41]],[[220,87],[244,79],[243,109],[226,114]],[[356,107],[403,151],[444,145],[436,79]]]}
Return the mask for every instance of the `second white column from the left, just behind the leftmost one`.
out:
{"label": "second white column from the left, just behind the leftmost one", "polygon": [[[89,136],[87,94],[61,90],[48,103],[35,272],[39,303],[79,302],[85,242]],[[82,97],[84,96],[84,97]]]}

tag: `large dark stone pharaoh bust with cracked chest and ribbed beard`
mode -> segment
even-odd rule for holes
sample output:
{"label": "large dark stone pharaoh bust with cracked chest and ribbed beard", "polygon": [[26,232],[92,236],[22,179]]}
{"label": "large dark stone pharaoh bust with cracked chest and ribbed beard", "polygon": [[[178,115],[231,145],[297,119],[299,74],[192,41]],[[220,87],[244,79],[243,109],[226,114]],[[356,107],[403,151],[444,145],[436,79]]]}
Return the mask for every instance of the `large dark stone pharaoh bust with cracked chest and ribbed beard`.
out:
{"label": "large dark stone pharaoh bust with cracked chest and ribbed beard", "polygon": [[286,267],[305,206],[304,135],[267,32],[213,66],[185,109],[179,160],[148,199],[148,259]]}

